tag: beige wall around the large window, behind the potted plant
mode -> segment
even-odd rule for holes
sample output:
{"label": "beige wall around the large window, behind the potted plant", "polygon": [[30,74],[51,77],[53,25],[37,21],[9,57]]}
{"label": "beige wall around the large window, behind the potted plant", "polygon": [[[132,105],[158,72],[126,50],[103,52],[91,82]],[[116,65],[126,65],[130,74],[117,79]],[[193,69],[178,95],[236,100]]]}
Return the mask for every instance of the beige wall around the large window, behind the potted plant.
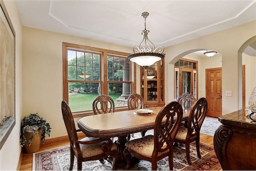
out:
{"label": "beige wall around the large window, behind the potted plant", "polygon": [[132,52],[132,48],[28,27],[22,29],[23,116],[38,113],[46,119],[52,128],[51,138],[67,135],[61,113],[62,42],[121,52]]}

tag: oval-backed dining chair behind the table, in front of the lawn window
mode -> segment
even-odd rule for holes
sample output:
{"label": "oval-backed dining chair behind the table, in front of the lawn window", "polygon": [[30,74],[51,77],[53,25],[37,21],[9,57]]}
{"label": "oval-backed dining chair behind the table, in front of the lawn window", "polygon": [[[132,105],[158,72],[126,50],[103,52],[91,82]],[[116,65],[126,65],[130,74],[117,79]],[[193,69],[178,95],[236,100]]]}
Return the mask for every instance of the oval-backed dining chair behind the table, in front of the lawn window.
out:
{"label": "oval-backed dining chair behind the table, in front of the lawn window", "polygon": [[92,102],[92,110],[94,115],[102,113],[110,113],[115,111],[114,100],[105,94],[99,95]]}

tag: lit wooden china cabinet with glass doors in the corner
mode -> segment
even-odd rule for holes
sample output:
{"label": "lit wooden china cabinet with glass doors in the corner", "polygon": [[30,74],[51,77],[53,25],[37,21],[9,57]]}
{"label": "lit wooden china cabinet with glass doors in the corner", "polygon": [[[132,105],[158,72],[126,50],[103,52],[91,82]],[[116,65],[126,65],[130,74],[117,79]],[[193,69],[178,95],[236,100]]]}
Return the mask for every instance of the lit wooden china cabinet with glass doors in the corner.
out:
{"label": "lit wooden china cabinet with glass doors in the corner", "polygon": [[140,93],[144,108],[164,106],[164,59],[149,66],[140,67]]}

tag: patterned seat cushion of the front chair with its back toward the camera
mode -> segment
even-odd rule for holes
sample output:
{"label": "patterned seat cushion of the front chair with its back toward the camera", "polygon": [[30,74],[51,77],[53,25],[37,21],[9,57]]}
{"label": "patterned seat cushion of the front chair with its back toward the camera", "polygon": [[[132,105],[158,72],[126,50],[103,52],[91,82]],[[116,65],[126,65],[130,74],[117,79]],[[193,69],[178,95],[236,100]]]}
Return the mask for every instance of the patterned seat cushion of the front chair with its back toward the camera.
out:
{"label": "patterned seat cushion of the front chair with its back toward the camera", "polygon": [[[133,139],[126,142],[125,146],[129,149],[132,149],[133,151],[136,151],[136,153],[140,155],[152,157],[152,153],[154,150],[154,135],[146,135],[142,138]],[[158,156],[168,152],[169,149],[164,152],[158,153]]]}

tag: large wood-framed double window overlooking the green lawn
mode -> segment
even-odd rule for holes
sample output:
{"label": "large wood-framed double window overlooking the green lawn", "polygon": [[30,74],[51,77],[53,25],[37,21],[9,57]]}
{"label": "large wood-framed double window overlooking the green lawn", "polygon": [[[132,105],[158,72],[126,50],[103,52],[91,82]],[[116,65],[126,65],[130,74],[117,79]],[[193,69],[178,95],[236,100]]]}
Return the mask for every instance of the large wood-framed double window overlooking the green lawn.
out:
{"label": "large wood-framed double window overlooking the green lawn", "polygon": [[127,53],[63,43],[63,99],[72,113],[91,114],[100,94],[112,97],[115,109],[127,106],[133,92],[134,66]]}

